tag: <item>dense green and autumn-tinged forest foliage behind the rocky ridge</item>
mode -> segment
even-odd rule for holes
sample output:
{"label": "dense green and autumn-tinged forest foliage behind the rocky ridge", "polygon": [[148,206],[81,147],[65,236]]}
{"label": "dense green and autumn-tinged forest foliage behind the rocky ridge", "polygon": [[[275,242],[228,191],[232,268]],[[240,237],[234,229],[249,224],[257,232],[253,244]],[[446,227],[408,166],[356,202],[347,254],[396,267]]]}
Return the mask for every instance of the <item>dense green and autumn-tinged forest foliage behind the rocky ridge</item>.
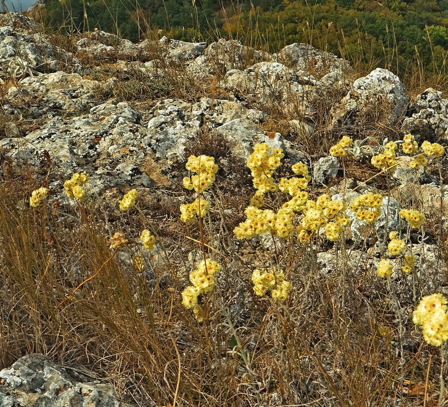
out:
{"label": "dense green and autumn-tinged forest foliage behind the rocky ridge", "polygon": [[163,30],[184,40],[235,38],[269,51],[308,42],[396,71],[420,63],[438,73],[448,50],[448,0],[48,0],[45,20],[133,41]]}

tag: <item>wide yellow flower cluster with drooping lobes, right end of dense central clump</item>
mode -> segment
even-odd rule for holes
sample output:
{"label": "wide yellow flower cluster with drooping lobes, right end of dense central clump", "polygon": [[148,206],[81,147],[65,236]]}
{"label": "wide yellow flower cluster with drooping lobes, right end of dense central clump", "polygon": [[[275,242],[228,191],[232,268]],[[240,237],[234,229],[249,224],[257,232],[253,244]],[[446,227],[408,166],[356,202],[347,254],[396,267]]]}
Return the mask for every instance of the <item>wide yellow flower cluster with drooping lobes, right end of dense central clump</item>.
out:
{"label": "wide yellow flower cluster with drooping lobes, right end of dense central clump", "polygon": [[322,227],[325,227],[328,240],[338,240],[344,227],[350,223],[345,210],[343,200],[331,200],[328,194],[322,194],[315,201],[308,200],[303,210],[304,216],[296,229],[299,241],[305,243]]}

